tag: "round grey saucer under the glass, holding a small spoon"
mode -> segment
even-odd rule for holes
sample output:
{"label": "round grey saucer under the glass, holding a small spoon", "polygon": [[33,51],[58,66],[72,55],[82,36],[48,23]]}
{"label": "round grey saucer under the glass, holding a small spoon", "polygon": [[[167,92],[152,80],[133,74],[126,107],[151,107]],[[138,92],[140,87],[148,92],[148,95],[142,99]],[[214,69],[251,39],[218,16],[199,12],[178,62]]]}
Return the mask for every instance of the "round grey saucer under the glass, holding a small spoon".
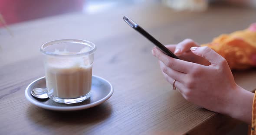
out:
{"label": "round grey saucer under the glass, holding a small spoon", "polygon": [[56,103],[51,99],[37,99],[31,95],[31,90],[34,88],[46,88],[45,77],[34,80],[25,90],[26,99],[36,106],[44,109],[58,110],[58,111],[74,111],[80,109],[87,109],[97,106],[110,98],[113,94],[112,85],[102,77],[92,75],[92,90],[89,99],[72,104]]}

